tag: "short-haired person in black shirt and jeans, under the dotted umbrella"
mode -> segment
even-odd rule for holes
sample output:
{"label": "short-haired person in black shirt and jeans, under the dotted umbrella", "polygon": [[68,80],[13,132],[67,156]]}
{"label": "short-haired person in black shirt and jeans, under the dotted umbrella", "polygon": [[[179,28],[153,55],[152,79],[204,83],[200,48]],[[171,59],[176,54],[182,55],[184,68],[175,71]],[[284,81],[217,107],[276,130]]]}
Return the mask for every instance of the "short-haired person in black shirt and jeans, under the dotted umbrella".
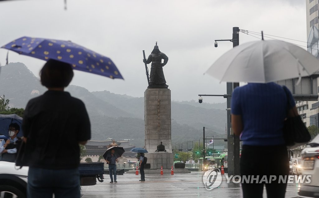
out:
{"label": "short-haired person in black shirt and jeans, under the dotted umbrella", "polygon": [[48,60],[40,72],[43,95],[26,105],[22,123],[29,172],[27,197],[80,197],[79,144],[91,138],[84,103],[64,92],[72,66]]}

